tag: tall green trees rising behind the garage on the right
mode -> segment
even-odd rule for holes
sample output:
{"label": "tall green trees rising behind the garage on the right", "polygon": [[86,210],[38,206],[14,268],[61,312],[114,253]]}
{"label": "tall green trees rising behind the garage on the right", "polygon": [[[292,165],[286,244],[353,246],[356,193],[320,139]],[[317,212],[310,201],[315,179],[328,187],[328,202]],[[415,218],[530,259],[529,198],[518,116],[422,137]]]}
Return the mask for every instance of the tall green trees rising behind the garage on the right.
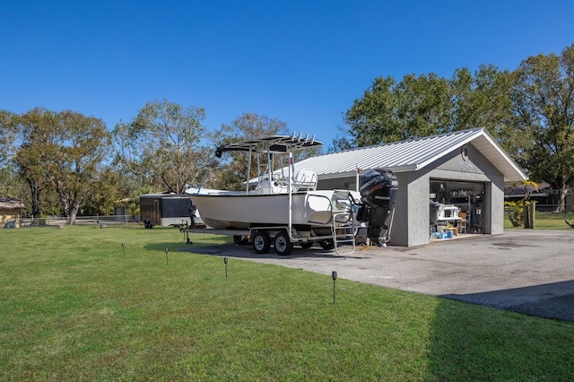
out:
{"label": "tall green trees rising behind the garage on the right", "polygon": [[530,180],[559,190],[563,212],[574,186],[574,45],[530,56],[514,71],[480,65],[450,79],[378,77],[344,122],[334,151],[485,127]]}

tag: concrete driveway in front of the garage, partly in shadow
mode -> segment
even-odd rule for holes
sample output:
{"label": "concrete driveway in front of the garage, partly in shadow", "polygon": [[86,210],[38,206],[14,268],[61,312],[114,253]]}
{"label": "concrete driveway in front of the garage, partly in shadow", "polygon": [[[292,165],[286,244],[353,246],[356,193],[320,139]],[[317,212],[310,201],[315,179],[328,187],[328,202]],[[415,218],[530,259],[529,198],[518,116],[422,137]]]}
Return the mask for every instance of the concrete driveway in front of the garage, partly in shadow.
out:
{"label": "concrete driveway in front of the garage, partly in shadow", "polygon": [[574,322],[574,230],[461,235],[420,247],[358,247],[350,256],[316,248],[290,256],[257,255],[250,246],[188,250]]}

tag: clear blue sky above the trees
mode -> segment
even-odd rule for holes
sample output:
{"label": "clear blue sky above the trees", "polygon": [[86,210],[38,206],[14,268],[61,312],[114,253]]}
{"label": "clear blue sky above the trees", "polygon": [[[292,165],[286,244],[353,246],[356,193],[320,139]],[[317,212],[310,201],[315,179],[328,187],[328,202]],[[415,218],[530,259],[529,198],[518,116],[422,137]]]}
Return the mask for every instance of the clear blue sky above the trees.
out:
{"label": "clear blue sky above the trees", "polygon": [[210,129],[257,113],[328,146],[378,76],[513,70],[573,43],[570,1],[4,0],[0,109],[112,129],[168,99]]}

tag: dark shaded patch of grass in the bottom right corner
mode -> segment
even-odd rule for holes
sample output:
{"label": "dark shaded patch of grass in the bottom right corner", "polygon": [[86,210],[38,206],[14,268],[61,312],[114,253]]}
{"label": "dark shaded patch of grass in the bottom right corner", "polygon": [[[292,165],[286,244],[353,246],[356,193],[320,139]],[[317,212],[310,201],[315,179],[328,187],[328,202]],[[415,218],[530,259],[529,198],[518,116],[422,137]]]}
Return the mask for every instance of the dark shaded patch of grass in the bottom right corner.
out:
{"label": "dark shaded patch of grass in the bottom right corner", "polygon": [[439,301],[426,380],[574,380],[569,323]]}

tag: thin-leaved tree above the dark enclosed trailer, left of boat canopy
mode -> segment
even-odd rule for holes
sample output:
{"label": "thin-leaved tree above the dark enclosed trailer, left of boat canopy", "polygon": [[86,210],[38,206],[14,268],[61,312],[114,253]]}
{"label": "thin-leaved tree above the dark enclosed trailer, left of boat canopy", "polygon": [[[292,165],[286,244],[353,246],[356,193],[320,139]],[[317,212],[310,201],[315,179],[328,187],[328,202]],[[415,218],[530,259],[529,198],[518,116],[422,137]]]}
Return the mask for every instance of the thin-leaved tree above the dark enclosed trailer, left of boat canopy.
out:
{"label": "thin-leaved tree above the dark enclosed trailer, left of boat canopy", "polygon": [[149,102],[131,124],[120,122],[114,129],[117,161],[150,184],[181,194],[196,183],[207,162],[201,144],[204,118],[203,108]]}

